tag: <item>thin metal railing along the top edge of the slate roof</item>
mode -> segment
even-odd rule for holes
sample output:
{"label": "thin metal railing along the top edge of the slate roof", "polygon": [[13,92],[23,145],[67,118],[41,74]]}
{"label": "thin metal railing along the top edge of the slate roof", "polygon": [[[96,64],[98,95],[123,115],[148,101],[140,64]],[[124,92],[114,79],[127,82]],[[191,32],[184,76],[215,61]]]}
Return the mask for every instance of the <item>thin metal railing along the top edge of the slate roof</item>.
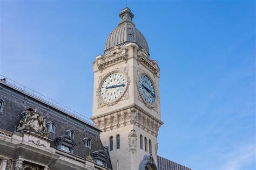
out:
{"label": "thin metal railing along the top edge of the slate roof", "polygon": [[84,122],[86,122],[88,124],[93,125],[92,121],[88,117],[86,117],[86,116],[84,116],[82,114],[79,114],[75,110],[72,110],[72,109],[70,109],[68,107],[65,107],[64,105],[62,105],[62,104],[60,104],[60,103],[58,103],[56,101],[53,101],[49,97],[46,97],[46,96],[44,96],[44,95],[42,95],[40,93],[37,93],[35,90],[32,90],[32,89],[30,89],[28,87],[25,87],[22,84],[19,84],[18,82],[9,79],[8,77],[0,75],[0,82],[2,82],[4,84],[7,84],[8,86],[11,86],[12,88],[15,88],[18,91],[22,91],[25,94],[31,95],[32,97],[35,97],[37,100],[42,101],[42,102],[44,102],[46,104],[49,104],[51,107],[56,108],[56,109],[58,109],[60,111],[63,111],[66,114],[68,114],[68,115],[70,115],[72,117],[75,117],[77,119],[80,119],[81,121],[84,121]]}

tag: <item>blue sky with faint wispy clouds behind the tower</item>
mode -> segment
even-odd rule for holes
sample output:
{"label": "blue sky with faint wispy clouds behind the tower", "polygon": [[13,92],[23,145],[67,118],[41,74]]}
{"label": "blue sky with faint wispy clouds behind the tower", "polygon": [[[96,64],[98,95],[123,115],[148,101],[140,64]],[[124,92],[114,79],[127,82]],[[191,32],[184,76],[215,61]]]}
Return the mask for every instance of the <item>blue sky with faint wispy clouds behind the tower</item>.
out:
{"label": "blue sky with faint wispy clouds behind the tower", "polygon": [[255,169],[254,1],[1,1],[0,73],[87,117],[95,56],[125,4],[160,66],[158,154]]}

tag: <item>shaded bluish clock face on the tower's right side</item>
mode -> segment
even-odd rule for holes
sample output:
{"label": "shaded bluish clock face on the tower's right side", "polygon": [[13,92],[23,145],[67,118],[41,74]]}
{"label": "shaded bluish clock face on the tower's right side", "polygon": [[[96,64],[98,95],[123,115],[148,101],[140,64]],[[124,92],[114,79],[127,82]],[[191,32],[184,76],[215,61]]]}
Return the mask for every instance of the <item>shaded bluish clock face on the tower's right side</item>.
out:
{"label": "shaded bluish clock face on the tower's right side", "polygon": [[142,74],[139,79],[139,93],[147,103],[152,104],[156,100],[153,83],[145,74]]}

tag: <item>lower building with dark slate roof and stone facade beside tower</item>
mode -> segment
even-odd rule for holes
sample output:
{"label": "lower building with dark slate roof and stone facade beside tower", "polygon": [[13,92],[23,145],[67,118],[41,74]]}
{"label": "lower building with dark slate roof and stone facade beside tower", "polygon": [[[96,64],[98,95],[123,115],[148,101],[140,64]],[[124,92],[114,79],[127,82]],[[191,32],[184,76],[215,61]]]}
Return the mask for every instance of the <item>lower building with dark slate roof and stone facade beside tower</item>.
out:
{"label": "lower building with dark slate roof and stone facade beside tower", "polygon": [[[1,169],[111,169],[100,130],[36,96],[0,81]],[[55,130],[50,130],[51,122]],[[73,132],[73,137],[70,132]],[[85,139],[91,140],[90,147]],[[64,145],[64,146],[62,146]],[[96,164],[103,159],[104,166]]]}

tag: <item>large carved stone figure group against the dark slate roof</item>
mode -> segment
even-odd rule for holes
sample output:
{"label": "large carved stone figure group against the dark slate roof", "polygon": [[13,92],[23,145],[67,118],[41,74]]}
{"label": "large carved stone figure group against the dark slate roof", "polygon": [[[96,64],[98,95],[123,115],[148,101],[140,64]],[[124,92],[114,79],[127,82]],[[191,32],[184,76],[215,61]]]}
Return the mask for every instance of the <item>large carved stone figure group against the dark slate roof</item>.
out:
{"label": "large carved stone figure group against the dark slate roof", "polygon": [[42,136],[48,136],[46,132],[45,118],[38,114],[37,107],[35,109],[27,109],[22,112],[22,118],[19,121],[17,131],[29,130]]}

